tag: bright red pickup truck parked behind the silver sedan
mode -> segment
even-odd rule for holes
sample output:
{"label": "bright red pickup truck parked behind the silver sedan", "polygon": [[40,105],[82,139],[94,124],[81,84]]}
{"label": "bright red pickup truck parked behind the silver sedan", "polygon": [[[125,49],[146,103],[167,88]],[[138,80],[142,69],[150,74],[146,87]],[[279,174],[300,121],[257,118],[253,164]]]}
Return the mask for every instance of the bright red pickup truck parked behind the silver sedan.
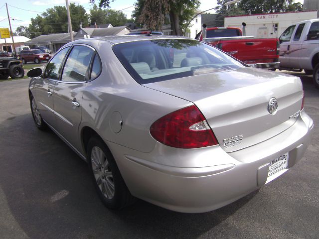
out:
{"label": "bright red pickup truck parked behind the silver sedan", "polygon": [[[204,37],[203,37],[204,35]],[[277,38],[254,38],[243,36],[237,27],[210,27],[198,34],[197,39],[215,46],[238,60],[258,68],[279,67],[279,46]]]}

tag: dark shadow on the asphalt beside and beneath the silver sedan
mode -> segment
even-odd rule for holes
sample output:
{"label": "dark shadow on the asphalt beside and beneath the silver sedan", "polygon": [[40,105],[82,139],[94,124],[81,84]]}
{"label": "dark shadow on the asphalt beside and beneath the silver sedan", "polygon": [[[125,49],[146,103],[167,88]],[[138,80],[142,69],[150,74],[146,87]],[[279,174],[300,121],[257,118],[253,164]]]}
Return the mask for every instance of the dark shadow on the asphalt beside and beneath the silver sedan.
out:
{"label": "dark shadow on the asphalt beside and beneath the silver sedan", "polygon": [[0,223],[0,238],[12,238],[12,232],[31,239],[197,238],[257,194],[202,214],[176,213],[142,200],[108,210],[87,164],[51,130],[38,130],[31,114],[0,124],[0,165],[0,196],[6,201],[0,211],[7,212],[0,214],[6,222]]}

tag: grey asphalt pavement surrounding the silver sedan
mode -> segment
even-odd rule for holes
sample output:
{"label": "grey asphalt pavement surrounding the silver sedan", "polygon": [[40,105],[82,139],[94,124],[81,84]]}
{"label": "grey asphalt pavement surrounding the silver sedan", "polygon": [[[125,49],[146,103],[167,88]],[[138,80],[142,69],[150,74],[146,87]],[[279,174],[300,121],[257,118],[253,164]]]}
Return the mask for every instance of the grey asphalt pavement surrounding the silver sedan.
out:
{"label": "grey asphalt pavement surrounding the silver sedan", "polygon": [[142,200],[106,209],[86,163],[31,117],[28,79],[0,82],[0,239],[318,239],[319,90],[304,74],[312,143],[295,167],[221,209],[182,214]]}

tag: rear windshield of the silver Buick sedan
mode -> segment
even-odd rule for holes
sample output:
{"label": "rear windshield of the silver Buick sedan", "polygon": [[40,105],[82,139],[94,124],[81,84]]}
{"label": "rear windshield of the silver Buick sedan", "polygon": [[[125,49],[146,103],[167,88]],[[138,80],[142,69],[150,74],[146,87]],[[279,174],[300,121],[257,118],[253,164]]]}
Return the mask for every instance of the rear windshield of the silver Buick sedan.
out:
{"label": "rear windshield of the silver Buick sedan", "polygon": [[245,67],[215,47],[190,39],[120,43],[113,50],[140,84]]}

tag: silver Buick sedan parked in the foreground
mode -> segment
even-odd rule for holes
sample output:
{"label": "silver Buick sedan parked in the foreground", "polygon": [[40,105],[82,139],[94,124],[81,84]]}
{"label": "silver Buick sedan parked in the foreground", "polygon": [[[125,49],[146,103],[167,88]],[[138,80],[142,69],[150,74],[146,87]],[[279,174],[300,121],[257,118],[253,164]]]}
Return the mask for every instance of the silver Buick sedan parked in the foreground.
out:
{"label": "silver Buick sedan parked in the foreground", "polygon": [[35,125],[88,162],[110,209],[220,208],[293,167],[314,127],[298,77],[189,38],[77,40],[28,76]]}

